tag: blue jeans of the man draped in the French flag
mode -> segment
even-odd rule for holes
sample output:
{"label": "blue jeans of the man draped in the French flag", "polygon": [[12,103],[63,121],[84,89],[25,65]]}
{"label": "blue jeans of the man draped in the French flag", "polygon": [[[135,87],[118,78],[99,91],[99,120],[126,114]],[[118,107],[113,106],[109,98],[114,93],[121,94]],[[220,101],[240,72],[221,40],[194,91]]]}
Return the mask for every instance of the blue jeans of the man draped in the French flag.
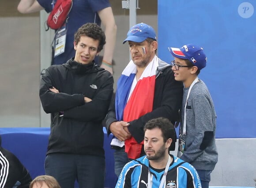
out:
{"label": "blue jeans of the man draped in the French flag", "polygon": [[127,153],[124,151],[124,147],[122,147],[120,149],[115,149],[114,159],[115,159],[115,173],[116,173],[117,177],[119,177],[124,165],[127,162],[129,162]]}

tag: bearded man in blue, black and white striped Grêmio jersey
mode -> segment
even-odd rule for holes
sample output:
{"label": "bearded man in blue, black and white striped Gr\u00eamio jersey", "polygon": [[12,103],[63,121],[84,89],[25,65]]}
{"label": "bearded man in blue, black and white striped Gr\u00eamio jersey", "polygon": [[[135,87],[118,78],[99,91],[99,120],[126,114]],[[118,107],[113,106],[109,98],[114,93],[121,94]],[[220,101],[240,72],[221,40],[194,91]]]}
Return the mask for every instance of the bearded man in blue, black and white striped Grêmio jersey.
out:
{"label": "bearded man in blue, black and white striped Gr\u00eamio jersey", "polygon": [[144,132],[146,156],[124,166],[116,188],[201,188],[196,169],[169,154],[176,134],[168,119],[159,117],[149,120]]}

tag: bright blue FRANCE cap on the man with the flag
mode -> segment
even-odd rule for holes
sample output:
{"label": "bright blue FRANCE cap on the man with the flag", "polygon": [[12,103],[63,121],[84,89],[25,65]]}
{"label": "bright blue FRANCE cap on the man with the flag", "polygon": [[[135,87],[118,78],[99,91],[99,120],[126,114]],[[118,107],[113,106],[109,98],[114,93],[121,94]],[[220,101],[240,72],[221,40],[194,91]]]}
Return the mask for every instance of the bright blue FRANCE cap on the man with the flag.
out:
{"label": "bright blue FRANCE cap on the man with the flag", "polygon": [[138,23],[132,26],[128,31],[127,38],[123,41],[123,44],[126,41],[143,42],[147,38],[152,38],[156,41],[156,34],[153,27],[147,25],[146,23]]}

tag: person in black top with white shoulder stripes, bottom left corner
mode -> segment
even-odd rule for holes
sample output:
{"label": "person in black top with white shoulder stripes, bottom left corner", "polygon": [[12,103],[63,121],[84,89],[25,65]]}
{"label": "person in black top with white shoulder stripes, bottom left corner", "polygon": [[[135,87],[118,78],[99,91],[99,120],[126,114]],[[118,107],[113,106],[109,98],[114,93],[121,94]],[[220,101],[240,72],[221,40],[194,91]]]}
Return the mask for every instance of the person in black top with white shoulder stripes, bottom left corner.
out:
{"label": "person in black top with white shoulder stripes, bottom left corner", "polygon": [[2,147],[0,135],[0,188],[29,188],[32,181],[28,170],[10,151]]}

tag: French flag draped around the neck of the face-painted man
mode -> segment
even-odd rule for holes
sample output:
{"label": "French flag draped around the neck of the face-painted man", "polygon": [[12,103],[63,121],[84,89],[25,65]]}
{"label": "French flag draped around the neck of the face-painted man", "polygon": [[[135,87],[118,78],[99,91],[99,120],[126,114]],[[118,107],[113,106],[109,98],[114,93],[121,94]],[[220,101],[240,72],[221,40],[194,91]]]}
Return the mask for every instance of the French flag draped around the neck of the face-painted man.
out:
{"label": "French flag draped around the neck of the face-painted man", "polygon": [[[153,109],[155,74],[158,67],[158,57],[147,65],[136,83],[136,65],[131,60],[117,82],[116,116],[117,120],[132,121],[149,113]],[[136,83],[136,86],[134,85]],[[137,143],[131,137],[125,141],[125,152],[128,158],[139,158],[143,142]]]}

